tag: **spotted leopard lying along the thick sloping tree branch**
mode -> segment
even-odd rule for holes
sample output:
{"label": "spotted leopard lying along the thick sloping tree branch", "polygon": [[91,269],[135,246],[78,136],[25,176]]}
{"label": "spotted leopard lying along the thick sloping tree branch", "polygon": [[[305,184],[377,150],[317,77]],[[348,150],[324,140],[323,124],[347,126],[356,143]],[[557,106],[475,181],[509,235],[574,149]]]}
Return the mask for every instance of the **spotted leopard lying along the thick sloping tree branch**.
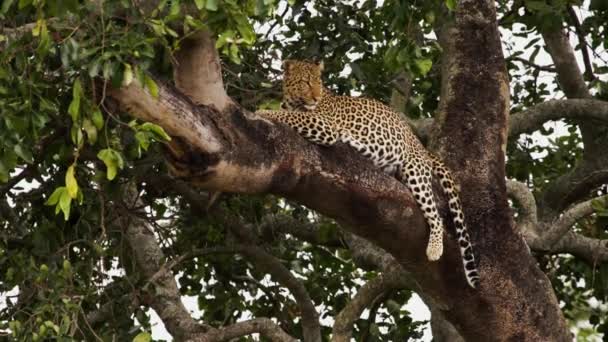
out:
{"label": "spotted leopard lying along the thick sloping tree branch", "polygon": [[344,143],[383,172],[394,176],[412,193],[429,226],[426,256],[443,254],[444,224],[438,213],[432,181],[447,197],[467,283],[477,288],[480,277],[465,225],[459,188],[451,172],[427,151],[410,126],[384,103],[366,97],[334,95],[324,87],[322,61],[283,61],[283,101],[279,110],[258,110],[264,119],[287,125],[311,143]]}

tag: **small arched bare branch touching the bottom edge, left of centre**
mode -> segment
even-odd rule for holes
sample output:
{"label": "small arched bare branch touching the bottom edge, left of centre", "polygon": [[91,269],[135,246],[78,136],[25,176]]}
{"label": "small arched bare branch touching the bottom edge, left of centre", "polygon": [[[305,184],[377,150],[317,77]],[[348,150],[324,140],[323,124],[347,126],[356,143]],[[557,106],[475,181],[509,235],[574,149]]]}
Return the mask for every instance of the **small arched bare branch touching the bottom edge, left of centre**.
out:
{"label": "small arched bare branch touching the bottom edge, left of centre", "polygon": [[298,340],[289,336],[277,324],[268,318],[255,318],[249,321],[238,322],[217,331],[189,339],[188,342],[221,342],[259,333],[274,342],[297,342]]}

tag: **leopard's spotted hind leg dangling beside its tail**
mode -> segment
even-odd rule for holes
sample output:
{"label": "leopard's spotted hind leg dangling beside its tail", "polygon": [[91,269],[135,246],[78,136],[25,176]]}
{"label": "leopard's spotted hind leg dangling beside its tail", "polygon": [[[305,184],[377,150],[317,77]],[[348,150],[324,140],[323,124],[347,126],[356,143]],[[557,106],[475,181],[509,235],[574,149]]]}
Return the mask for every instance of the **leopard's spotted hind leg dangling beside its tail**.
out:
{"label": "leopard's spotted hind leg dangling beside its tail", "polygon": [[421,161],[411,161],[400,170],[402,182],[410,189],[429,225],[426,256],[438,260],[443,254],[443,221],[437,212],[431,184],[431,168]]}

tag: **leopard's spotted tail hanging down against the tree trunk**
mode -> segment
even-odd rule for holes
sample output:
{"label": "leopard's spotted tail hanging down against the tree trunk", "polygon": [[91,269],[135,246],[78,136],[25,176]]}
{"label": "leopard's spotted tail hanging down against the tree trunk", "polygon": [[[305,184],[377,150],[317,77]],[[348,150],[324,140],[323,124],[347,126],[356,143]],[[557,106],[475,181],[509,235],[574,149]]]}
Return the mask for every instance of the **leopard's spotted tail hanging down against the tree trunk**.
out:
{"label": "leopard's spotted tail hanging down against the tree trunk", "polygon": [[475,256],[473,255],[473,246],[471,245],[471,239],[469,232],[464,222],[464,212],[462,205],[460,204],[460,198],[458,196],[458,189],[456,183],[450,174],[450,171],[436,156],[431,156],[433,174],[441,182],[441,188],[443,192],[448,196],[448,206],[454,226],[456,227],[456,236],[458,238],[458,246],[460,247],[460,255],[462,256],[462,265],[464,267],[464,274],[467,278],[467,282],[472,288],[476,288],[479,285],[479,271],[475,264]]}

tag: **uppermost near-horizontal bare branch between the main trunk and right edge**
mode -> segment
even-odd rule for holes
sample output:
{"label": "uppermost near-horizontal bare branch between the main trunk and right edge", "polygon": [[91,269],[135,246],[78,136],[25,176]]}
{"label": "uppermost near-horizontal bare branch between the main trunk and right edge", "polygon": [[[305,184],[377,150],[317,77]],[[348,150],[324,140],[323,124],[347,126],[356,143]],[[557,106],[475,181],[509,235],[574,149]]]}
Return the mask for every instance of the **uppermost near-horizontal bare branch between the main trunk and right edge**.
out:
{"label": "uppermost near-horizontal bare branch between the main trunk and right edge", "polygon": [[552,100],[539,103],[509,118],[509,136],[532,133],[551,120],[597,120],[608,125],[608,102],[593,99]]}

